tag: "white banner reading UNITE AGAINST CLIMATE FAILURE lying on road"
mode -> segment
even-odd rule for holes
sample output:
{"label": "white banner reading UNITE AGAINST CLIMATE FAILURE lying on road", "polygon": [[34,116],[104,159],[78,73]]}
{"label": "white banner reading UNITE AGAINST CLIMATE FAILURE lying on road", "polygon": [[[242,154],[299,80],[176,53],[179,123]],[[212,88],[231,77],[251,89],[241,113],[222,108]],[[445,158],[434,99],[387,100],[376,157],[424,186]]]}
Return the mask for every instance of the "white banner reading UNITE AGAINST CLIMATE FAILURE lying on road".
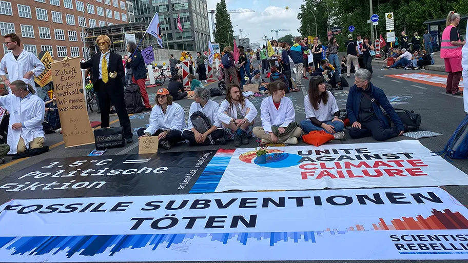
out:
{"label": "white banner reading UNITE AGAINST CLIMATE FAILURE lying on road", "polygon": [[468,185],[468,175],[418,140],[236,149],[216,192]]}

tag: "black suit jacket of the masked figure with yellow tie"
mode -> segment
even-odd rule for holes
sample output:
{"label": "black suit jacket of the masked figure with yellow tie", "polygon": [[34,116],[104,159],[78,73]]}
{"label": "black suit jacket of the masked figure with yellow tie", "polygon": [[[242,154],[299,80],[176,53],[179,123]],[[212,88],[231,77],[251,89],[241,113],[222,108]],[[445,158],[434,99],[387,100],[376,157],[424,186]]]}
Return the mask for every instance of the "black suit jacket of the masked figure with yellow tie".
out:
{"label": "black suit jacket of the masked figure with yellow tie", "polygon": [[[99,62],[101,60],[101,52],[94,54],[87,62],[81,63],[82,69],[92,68],[92,75],[93,75],[93,88],[95,91],[99,91],[100,87],[97,85],[97,80],[99,80]],[[125,76],[124,71],[124,64],[122,63],[122,56],[119,54],[115,54],[114,52],[110,52],[109,54],[109,61],[107,62],[108,69],[107,72],[117,72],[117,77],[111,78],[109,77],[109,81],[106,83],[106,86],[109,90],[115,91],[115,93],[123,93],[124,92],[124,85],[122,83],[122,77]]]}

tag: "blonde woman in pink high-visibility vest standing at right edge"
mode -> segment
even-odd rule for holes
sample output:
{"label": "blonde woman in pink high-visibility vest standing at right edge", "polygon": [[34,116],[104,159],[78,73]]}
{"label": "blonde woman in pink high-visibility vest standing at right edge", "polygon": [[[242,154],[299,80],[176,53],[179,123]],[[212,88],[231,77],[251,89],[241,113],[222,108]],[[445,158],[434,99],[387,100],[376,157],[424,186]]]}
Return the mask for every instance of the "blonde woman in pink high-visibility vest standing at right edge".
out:
{"label": "blonde woman in pink high-visibility vest standing at right edge", "polygon": [[460,14],[450,11],[447,16],[446,28],[442,33],[442,43],[440,45],[440,57],[445,62],[445,72],[447,76],[447,87],[445,93],[454,96],[462,96],[458,90],[463,68],[461,67],[461,49],[466,41],[461,41],[457,26],[460,23]]}

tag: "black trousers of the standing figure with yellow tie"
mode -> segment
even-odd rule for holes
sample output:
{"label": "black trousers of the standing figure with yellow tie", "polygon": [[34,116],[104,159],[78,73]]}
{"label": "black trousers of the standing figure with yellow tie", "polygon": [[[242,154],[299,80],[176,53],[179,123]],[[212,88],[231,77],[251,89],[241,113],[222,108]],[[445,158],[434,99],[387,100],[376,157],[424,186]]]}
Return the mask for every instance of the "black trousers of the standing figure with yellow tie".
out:
{"label": "black trousers of the standing figure with yellow tie", "polygon": [[99,86],[97,94],[99,95],[99,106],[101,108],[101,128],[109,127],[109,109],[110,104],[115,107],[117,116],[119,116],[120,126],[123,127],[125,138],[133,136],[130,127],[130,118],[128,117],[127,109],[125,108],[124,93],[115,93],[115,87],[111,87],[109,83],[104,83],[102,79],[97,80]]}

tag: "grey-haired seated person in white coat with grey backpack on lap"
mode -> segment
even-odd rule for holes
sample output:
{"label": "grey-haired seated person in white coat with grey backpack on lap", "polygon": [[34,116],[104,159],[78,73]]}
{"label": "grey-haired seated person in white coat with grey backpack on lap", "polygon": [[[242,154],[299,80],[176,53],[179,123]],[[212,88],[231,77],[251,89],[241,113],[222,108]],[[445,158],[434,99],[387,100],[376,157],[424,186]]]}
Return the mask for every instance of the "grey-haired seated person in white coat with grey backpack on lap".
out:
{"label": "grey-haired seated person in white coat with grey backpack on lap", "polygon": [[182,132],[182,137],[189,141],[190,146],[226,143],[218,110],[219,105],[210,99],[207,88],[195,89],[195,101],[188,111],[187,129]]}

